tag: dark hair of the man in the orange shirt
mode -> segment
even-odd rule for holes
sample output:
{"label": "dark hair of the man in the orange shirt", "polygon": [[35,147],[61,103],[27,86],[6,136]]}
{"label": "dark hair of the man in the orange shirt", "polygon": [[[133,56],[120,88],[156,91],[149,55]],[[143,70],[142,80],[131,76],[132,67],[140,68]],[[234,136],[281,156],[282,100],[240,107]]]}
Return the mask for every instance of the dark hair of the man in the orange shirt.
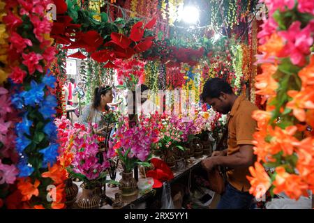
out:
{"label": "dark hair of the man in the orange shirt", "polygon": [[205,101],[206,98],[219,98],[221,92],[227,94],[233,93],[230,84],[225,82],[223,79],[208,79],[207,82],[204,84],[202,100]]}

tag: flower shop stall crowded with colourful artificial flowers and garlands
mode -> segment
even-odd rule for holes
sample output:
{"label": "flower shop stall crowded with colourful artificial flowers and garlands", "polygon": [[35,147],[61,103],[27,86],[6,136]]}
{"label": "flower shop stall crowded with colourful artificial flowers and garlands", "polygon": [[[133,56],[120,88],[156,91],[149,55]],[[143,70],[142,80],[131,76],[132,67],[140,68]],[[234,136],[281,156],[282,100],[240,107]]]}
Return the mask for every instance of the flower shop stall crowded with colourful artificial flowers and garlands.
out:
{"label": "flower shop stall crowded with colourful artificial flowers and garlands", "polygon": [[[314,192],[314,3],[1,0],[0,22],[0,208],[208,208],[200,162],[227,131],[201,100],[213,77],[260,109],[249,193]],[[102,112],[103,134],[69,120],[68,58],[85,106],[96,87],[144,84],[158,111]]]}

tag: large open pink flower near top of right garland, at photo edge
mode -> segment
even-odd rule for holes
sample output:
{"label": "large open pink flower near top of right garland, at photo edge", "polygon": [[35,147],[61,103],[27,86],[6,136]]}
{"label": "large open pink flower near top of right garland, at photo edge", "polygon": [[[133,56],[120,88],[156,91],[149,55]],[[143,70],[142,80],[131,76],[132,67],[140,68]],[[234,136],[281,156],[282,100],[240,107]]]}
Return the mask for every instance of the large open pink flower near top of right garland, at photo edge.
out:
{"label": "large open pink flower near top of right garland, at photo edge", "polygon": [[305,56],[310,54],[309,49],[313,45],[313,38],[311,37],[311,24],[304,29],[300,29],[300,26],[301,22],[293,22],[287,31],[280,31],[278,34],[287,40],[281,56],[290,56],[294,65],[304,66]]}

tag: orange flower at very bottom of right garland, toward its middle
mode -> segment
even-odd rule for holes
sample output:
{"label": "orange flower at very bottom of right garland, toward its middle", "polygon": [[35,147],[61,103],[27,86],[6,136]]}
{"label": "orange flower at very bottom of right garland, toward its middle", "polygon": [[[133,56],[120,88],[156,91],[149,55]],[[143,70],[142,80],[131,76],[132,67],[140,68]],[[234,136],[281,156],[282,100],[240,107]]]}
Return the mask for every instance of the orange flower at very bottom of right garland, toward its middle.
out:
{"label": "orange flower at very bottom of right garland, toward its middle", "polygon": [[301,176],[289,174],[283,167],[276,167],[276,179],[273,185],[275,186],[275,194],[285,192],[288,197],[297,200],[301,195],[308,196],[306,191],[308,190],[308,185],[302,180]]}

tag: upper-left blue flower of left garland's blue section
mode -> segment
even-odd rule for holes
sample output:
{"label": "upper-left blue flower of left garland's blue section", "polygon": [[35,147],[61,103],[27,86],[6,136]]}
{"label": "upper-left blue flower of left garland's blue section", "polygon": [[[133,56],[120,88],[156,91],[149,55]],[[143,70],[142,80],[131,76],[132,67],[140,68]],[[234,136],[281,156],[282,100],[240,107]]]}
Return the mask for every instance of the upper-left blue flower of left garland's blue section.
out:
{"label": "upper-left blue flower of left garland's blue section", "polygon": [[35,106],[39,104],[45,95],[45,84],[37,84],[34,80],[31,81],[31,89],[24,94],[25,105]]}

